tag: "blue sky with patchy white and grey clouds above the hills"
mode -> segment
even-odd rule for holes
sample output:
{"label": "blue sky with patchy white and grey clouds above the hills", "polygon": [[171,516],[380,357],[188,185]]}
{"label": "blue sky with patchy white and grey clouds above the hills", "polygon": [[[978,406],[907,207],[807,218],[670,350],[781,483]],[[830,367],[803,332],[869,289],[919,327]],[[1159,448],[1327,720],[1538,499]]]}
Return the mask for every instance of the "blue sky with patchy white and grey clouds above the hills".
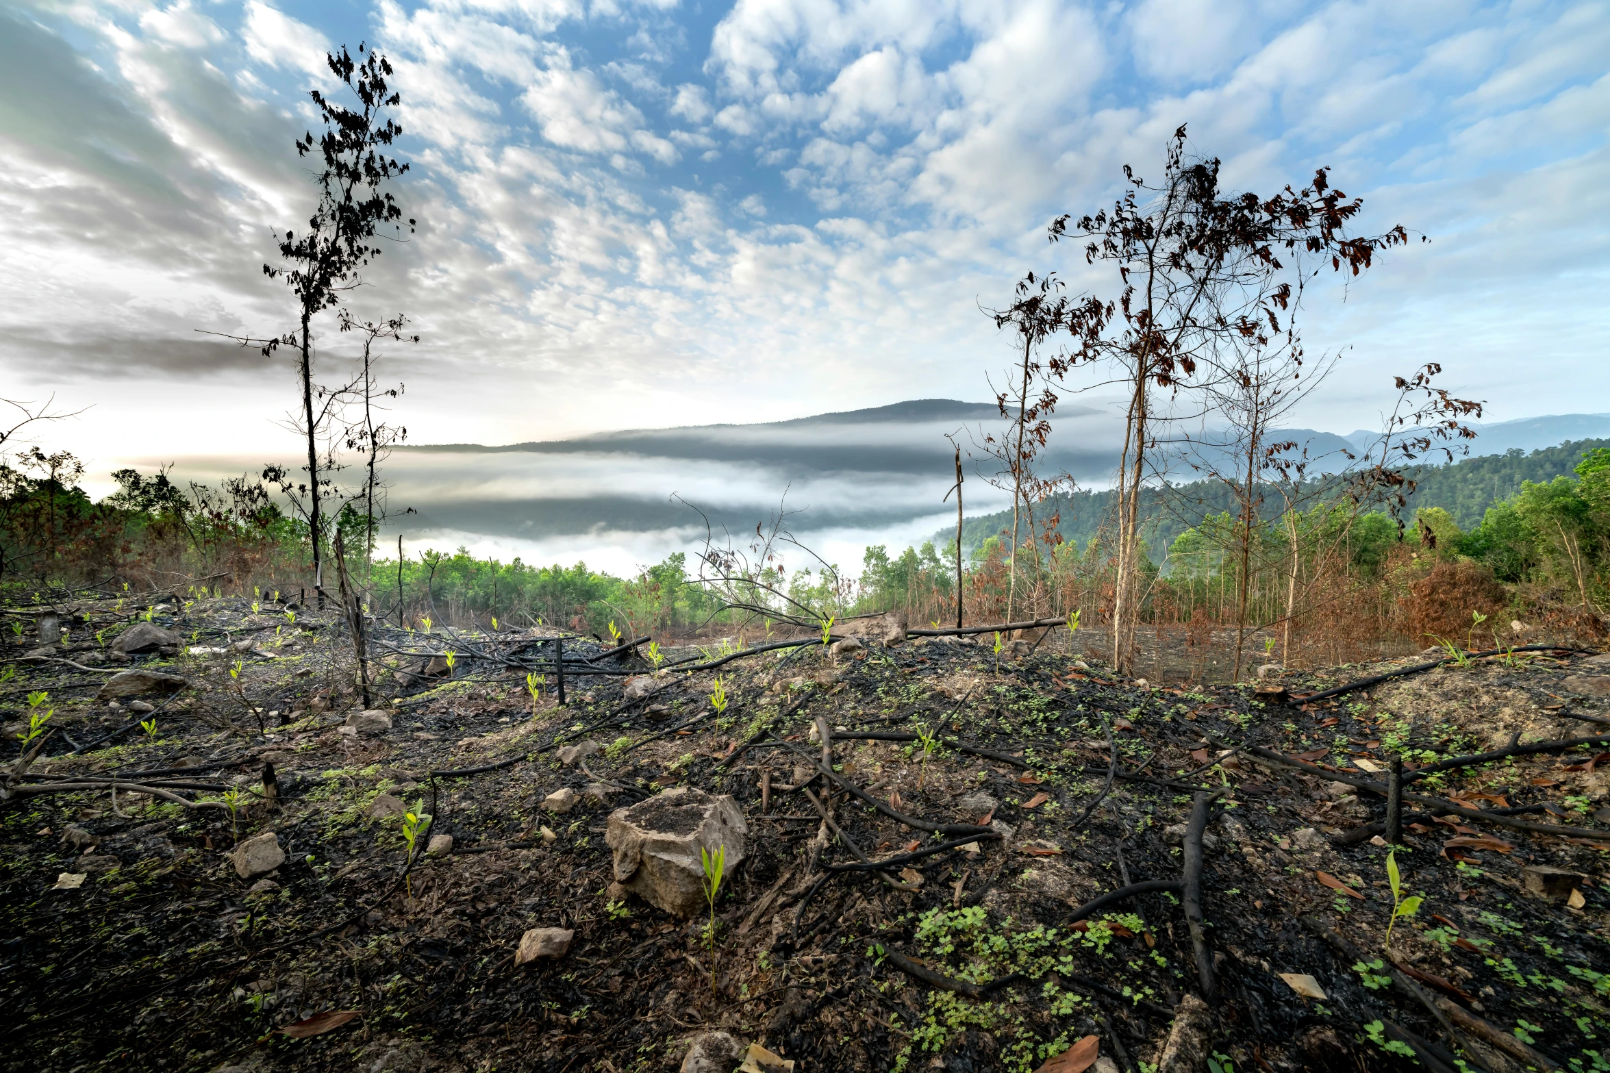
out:
{"label": "blue sky with patchy white and grey clouds above the hills", "polygon": [[[1045,227],[1161,171],[1187,124],[1232,188],[1315,167],[1393,251],[1307,299],[1378,423],[1425,362],[1486,420],[1610,410],[1610,5],[1141,0],[322,0],[0,5],[0,367],[85,457],[288,457],[324,53],[396,69],[419,220],[351,296],[406,314],[409,442],[987,401],[1027,270],[1109,293]],[[319,370],[349,339],[327,320]],[[1101,404],[1101,397],[1093,399]]]}

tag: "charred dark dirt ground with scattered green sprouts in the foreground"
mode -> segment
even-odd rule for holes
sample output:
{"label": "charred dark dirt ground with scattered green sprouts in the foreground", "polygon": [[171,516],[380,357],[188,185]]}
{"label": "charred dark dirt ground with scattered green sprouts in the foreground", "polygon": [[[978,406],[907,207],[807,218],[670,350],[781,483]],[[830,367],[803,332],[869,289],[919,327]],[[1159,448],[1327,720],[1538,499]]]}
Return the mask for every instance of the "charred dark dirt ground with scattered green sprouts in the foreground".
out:
{"label": "charred dark dirt ground with scattered green sprouts in the foreground", "polygon": [[[64,643],[27,660],[34,616],[0,629],[13,619],[23,634],[6,631],[16,643],[0,652],[16,668],[0,687],[8,1070],[625,1073],[678,1070],[716,1031],[803,1073],[1075,1073],[1055,1059],[1087,1038],[1100,1070],[1610,1070],[1610,737],[1415,782],[1438,803],[1534,806],[1512,819],[1573,830],[1407,803],[1399,893],[1423,902],[1389,944],[1388,846],[1359,830],[1385,803],[1340,782],[1383,779],[1389,754],[1412,771],[1517,732],[1521,745],[1610,735],[1592,722],[1610,716],[1610,660],[1594,653],[1298,703],[1253,685],[1141,685],[1050,645],[810,645],[655,677],[642,655],[578,639],[567,652],[612,672],[567,671],[560,708],[552,674],[539,700],[528,692],[520,664],[546,652],[530,634],[377,631],[369,708],[390,727],[343,727],[364,722],[364,703],[335,615],[82,600]],[[111,655],[138,623],[179,635],[179,653]],[[242,640],[258,643],[230,648]],[[399,652],[454,652],[454,666],[423,676],[427,658]],[[1406,663],[1277,684],[1302,693]],[[185,687],[95,700],[129,668]],[[628,682],[652,692],[628,700]],[[14,759],[43,711],[27,750],[43,748]],[[934,748],[853,737],[879,732]],[[586,740],[601,751],[560,763],[557,746]],[[1224,754],[1243,745],[1311,771]],[[169,780],[180,801],[40,791],[109,772]],[[683,785],[729,795],[747,825],[713,933],[704,911],[673,919],[612,888],[610,812]],[[544,809],[562,788],[576,803]],[[1208,994],[1179,891],[1071,920],[1117,888],[1180,880],[1204,791],[1219,795],[1203,806]],[[412,857],[406,811],[430,814]],[[961,838],[887,812],[989,830],[921,856]],[[232,849],[267,832],[283,861],[243,878]],[[427,854],[438,835],[451,851]],[[874,861],[913,856],[847,870],[847,840]],[[1571,875],[1528,893],[1539,865]],[[533,928],[573,938],[557,959],[517,964]]]}

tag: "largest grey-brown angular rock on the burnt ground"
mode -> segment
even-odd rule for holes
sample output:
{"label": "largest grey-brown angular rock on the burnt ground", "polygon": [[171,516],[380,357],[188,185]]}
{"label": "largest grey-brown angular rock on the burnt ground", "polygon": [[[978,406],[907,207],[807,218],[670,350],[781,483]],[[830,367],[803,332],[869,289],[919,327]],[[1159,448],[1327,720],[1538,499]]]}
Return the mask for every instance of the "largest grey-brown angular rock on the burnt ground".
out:
{"label": "largest grey-brown angular rock on the burnt ground", "polygon": [[726,875],[744,859],[749,825],[733,798],[676,787],[610,812],[604,841],[615,851],[615,880],[668,914],[705,906],[700,849],[726,846]]}

